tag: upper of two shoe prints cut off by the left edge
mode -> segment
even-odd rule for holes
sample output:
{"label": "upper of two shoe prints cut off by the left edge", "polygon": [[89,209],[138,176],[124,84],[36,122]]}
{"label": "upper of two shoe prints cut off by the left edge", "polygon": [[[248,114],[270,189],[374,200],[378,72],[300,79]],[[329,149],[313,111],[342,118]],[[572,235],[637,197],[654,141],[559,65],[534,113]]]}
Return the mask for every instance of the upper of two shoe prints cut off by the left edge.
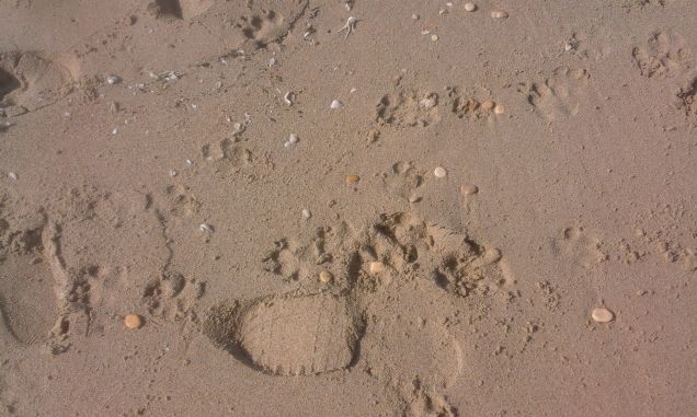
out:
{"label": "upper of two shoe prints cut off by the left edge", "polygon": [[20,116],[70,92],[70,71],[38,53],[0,53],[0,111]]}

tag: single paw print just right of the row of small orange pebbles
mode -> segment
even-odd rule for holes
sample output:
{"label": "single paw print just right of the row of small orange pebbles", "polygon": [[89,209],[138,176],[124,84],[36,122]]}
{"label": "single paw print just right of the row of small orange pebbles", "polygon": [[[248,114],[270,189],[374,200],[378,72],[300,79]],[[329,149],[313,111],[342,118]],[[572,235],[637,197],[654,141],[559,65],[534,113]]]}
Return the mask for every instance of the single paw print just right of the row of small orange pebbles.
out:
{"label": "single paw print just right of the row of small orange pebbles", "polygon": [[575,116],[589,79],[584,69],[557,68],[552,77],[529,88],[527,101],[549,120]]}

